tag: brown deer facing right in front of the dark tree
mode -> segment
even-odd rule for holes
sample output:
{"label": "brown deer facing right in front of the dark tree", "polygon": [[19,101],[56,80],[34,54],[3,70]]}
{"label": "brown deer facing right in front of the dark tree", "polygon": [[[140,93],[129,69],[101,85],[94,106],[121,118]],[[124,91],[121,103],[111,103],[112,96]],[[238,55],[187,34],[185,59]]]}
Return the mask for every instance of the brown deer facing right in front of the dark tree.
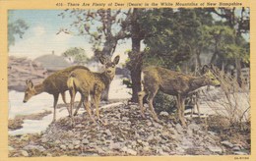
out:
{"label": "brown deer facing right in front of the dark tree", "polygon": [[158,90],[163,93],[176,96],[178,107],[178,120],[182,126],[186,126],[184,118],[184,100],[188,94],[195,89],[204,85],[220,85],[220,81],[217,80],[211,71],[207,71],[201,77],[193,77],[185,75],[179,72],[170,71],[160,67],[150,66],[142,72],[142,91],[138,92],[139,105],[141,109],[141,115],[145,118],[143,107],[143,98],[148,95],[148,103],[151,113],[156,121],[159,118],[154,110],[153,99],[156,96]]}

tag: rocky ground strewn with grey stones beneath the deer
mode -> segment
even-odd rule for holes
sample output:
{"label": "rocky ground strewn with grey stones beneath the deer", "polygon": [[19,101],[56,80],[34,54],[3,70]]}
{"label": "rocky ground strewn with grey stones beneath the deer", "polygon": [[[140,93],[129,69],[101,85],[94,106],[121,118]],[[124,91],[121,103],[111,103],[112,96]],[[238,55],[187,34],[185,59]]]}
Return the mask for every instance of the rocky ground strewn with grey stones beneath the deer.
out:
{"label": "rocky ground strewn with grey stones beneath the deer", "polygon": [[[136,104],[100,110],[102,121],[94,124],[88,115],[68,117],[51,124],[41,134],[9,135],[9,156],[152,156],[249,154],[250,133],[215,131],[226,120],[187,119],[187,128],[166,112],[156,123],[149,111],[140,117]],[[222,124],[220,124],[222,121]],[[212,126],[209,126],[212,125]],[[39,125],[38,125],[39,126]],[[228,133],[230,134],[228,134]],[[229,135],[229,136],[227,136]]]}

